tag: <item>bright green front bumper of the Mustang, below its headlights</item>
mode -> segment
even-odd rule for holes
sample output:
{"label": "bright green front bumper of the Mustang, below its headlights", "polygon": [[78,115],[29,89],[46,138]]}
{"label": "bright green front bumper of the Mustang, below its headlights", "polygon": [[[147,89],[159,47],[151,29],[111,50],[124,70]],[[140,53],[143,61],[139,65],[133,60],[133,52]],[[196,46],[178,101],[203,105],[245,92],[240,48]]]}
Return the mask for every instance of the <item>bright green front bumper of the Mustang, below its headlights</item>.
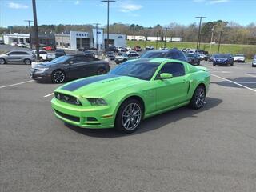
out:
{"label": "bright green front bumper of the Mustang, below its headlights", "polygon": [[88,129],[114,127],[110,106],[75,106],[57,98],[51,100],[51,106],[55,116],[68,124]]}

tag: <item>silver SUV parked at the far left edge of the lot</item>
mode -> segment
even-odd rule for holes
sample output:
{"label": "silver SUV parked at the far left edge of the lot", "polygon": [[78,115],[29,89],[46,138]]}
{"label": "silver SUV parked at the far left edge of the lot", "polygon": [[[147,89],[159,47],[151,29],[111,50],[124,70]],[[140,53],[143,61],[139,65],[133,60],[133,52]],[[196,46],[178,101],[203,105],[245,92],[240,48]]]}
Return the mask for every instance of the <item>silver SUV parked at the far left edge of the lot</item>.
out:
{"label": "silver SUV parked at the far left edge of the lot", "polygon": [[0,64],[8,62],[24,62],[26,65],[30,65],[34,60],[35,55],[30,51],[25,50],[12,50],[6,54],[0,54]]}

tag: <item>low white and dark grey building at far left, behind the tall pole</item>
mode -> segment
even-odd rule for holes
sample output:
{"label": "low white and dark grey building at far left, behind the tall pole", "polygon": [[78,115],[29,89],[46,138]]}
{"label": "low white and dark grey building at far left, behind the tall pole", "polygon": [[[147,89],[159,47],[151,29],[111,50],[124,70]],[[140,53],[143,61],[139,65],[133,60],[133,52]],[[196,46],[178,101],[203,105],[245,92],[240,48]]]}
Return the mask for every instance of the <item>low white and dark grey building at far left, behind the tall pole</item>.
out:
{"label": "low white and dark grey building at far left, behind the tall pole", "polygon": [[[39,44],[54,46],[54,34],[38,34]],[[34,33],[31,34],[32,44],[35,44]],[[30,44],[30,34],[4,34],[3,41],[7,45],[11,45],[13,42]]]}

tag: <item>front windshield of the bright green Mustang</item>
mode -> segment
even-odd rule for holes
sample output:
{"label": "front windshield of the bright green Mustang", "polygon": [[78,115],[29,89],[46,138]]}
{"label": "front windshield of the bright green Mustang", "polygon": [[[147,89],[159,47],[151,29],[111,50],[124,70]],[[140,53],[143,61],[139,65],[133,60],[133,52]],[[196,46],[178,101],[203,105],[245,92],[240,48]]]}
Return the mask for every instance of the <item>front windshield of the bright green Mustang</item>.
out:
{"label": "front windshield of the bright green Mustang", "polygon": [[117,66],[110,74],[130,76],[149,81],[158,69],[158,62],[124,62],[121,66]]}

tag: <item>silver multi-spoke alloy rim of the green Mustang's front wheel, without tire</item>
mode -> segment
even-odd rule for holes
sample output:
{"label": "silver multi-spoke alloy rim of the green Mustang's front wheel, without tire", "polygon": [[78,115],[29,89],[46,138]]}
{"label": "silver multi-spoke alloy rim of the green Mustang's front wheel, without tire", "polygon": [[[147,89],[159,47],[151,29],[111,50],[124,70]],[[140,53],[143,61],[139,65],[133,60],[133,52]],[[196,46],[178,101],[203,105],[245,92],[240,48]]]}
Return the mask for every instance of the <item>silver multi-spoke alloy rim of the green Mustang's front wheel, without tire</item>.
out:
{"label": "silver multi-spoke alloy rim of the green Mustang's front wheel, without tire", "polygon": [[122,112],[122,126],[126,130],[134,130],[137,128],[141,118],[141,107],[137,103],[132,102]]}

